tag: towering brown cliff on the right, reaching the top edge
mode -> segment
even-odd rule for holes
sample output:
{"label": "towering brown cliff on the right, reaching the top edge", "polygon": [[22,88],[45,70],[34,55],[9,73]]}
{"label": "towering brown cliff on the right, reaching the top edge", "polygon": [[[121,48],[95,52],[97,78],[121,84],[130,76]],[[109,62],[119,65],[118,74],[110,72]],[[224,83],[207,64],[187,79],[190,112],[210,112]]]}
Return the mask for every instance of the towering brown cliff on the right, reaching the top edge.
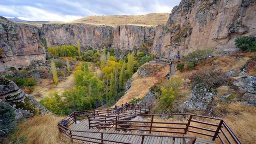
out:
{"label": "towering brown cliff on the right, reaching the top edge", "polygon": [[238,51],[234,40],[256,34],[256,0],[182,0],[166,26],[158,26],[153,53],[160,58],[216,48],[218,54]]}

